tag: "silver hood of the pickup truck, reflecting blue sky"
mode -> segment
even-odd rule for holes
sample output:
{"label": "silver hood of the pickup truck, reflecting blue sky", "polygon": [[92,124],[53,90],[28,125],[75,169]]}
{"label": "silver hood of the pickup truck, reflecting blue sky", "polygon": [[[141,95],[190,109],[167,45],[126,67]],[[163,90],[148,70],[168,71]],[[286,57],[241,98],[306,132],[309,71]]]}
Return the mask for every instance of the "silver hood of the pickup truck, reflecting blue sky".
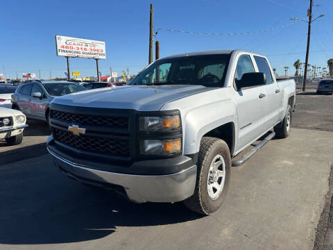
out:
{"label": "silver hood of the pickup truck, reflecting blue sky", "polygon": [[90,108],[157,111],[164,103],[207,90],[212,88],[202,85],[130,85],[67,94],[53,99],[52,103]]}

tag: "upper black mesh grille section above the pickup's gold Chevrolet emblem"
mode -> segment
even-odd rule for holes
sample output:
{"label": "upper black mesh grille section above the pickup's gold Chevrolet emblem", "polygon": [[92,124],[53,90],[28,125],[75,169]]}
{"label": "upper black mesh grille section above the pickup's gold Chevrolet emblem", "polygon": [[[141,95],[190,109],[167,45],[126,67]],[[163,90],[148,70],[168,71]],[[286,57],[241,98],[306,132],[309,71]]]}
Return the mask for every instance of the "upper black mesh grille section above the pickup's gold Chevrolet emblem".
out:
{"label": "upper black mesh grille section above the pickup's gold Chevrolet emblem", "polygon": [[106,128],[128,128],[128,117],[82,115],[76,113],[65,113],[58,110],[51,110],[51,118],[58,119],[63,122],[89,126],[103,126]]}

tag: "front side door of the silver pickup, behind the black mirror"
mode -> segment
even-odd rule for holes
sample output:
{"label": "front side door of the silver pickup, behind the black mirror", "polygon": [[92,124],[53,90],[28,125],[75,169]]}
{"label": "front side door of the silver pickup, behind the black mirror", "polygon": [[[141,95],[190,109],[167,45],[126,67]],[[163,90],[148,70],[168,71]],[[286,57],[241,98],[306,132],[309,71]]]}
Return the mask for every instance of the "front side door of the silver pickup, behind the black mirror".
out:
{"label": "front side door of the silver pickup, behind the black mirror", "polygon": [[[237,60],[234,74],[234,88],[237,90],[237,81],[244,73],[255,72],[252,58],[248,54],[242,54]],[[259,94],[262,85],[242,88],[237,91],[235,101],[238,110],[239,140],[237,150],[244,149],[250,142],[257,139],[262,133],[262,110],[259,106]]]}

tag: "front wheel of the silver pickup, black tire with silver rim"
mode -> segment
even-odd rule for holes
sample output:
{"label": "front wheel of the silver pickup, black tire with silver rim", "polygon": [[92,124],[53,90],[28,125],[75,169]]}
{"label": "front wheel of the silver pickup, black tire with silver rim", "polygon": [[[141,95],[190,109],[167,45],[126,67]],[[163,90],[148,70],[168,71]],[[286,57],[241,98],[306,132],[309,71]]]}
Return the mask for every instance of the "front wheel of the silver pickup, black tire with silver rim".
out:
{"label": "front wheel of the silver pickup, black tire with silver rim", "polygon": [[[215,172],[216,175],[211,172],[212,169],[216,169],[216,167],[212,167],[213,162],[221,162],[221,165],[217,166],[220,172]],[[230,168],[231,157],[228,145],[221,139],[204,137],[200,142],[196,188],[194,194],[183,201],[185,206],[202,215],[210,215],[218,210],[225,200],[225,194],[228,191]],[[221,169],[224,169],[224,177],[217,176],[217,174],[223,173]],[[216,192],[214,193],[212,186],[216,183],[221,184],[221,189],[217,190],[215,188]]]}

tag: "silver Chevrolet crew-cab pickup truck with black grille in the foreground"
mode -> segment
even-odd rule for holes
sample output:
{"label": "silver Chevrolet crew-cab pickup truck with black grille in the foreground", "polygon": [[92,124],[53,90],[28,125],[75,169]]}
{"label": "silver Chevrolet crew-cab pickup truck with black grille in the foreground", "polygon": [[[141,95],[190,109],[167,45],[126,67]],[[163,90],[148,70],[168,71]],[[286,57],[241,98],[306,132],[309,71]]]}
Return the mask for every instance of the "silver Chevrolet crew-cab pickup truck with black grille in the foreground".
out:
{"label": "silver Chevrolet crew-cab pickup truck with black grille in the foreground", "polygon": [[47,148],[77,181],[137,203],[184,201],[209,215],[225,199],[232,165],[275,135],[287,138],[295,94],[293,79],[276,81],[255,53],[169,56],[130,85],[54,99]]}

